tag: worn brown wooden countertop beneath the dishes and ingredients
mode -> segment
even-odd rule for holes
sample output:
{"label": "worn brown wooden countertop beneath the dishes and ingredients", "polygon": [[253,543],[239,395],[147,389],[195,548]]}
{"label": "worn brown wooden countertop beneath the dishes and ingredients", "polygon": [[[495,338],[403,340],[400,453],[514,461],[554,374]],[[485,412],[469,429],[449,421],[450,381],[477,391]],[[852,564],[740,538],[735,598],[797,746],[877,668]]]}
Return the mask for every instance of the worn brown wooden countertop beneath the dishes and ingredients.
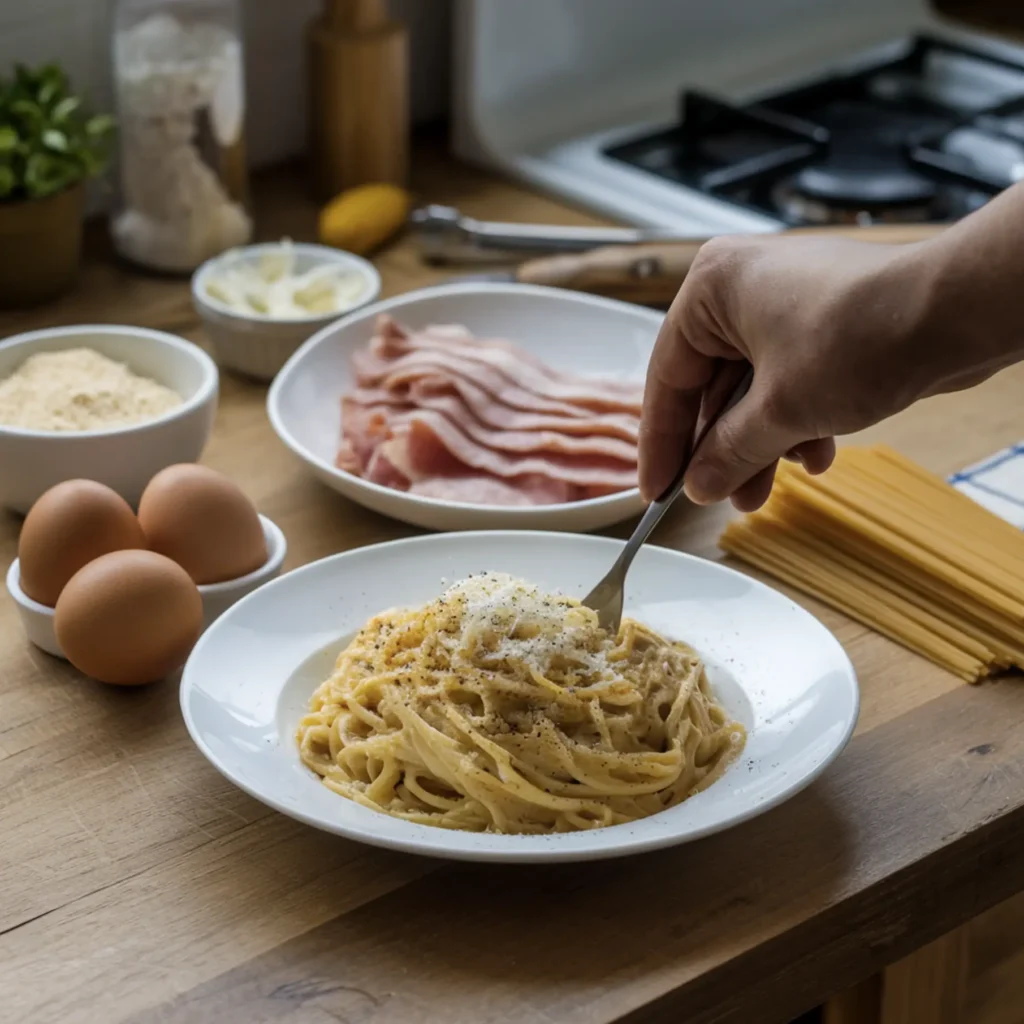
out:
{"label": "worn brown wooden countertop beneath the dishes and ingredients", "polygon": [[[438,159],[418,187],[477,216],[592,222]],[[294,176],[260,233],[309,237]],[[398,243],[385,294],[443,274]],[[94,248],[76,293],[0,336],[121,322],[202,340],[185,284]],[[1024,367],[877,428],[949,471],[1024,436]],[[314,481],[225,375],[206,461],[288,535],[289,565],[406,536]],[[662,544],[717,557],[721,510]],[[18,524],[0,514],[0,569]],[[628,525],[617,532],[622,536]],[[173,683],[120,691],[30,648],[0,600],[0,1019],[61,1024],[782,1021],[1024,888],[1024,687],[978,688],[804,601],[860,676],[857,734],[799,797],[703,842],[558,867],[443,864],[323,835],[195,750]]]}

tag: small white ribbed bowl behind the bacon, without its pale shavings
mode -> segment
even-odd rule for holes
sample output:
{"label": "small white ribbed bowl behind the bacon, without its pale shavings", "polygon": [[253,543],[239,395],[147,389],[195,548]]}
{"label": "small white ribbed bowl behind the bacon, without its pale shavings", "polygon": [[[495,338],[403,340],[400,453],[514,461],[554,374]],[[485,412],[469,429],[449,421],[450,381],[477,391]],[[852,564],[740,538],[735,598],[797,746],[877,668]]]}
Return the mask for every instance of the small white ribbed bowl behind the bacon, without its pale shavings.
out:
{"label": "small white ribbed bowl behind the bacon, without its pale shavings", "polygon": [[380,295],[380,274],[373,263],[361,256],[329,246],[304,243],[296,243],[292,248],[296,272],[304,273],[324,263],[336,263],[362,278],[362,294],[349,309],[326,315],[318,313],[297,319],[280,319],[258,313],[243,313],[207,293],[210,278],[227,261],[241,259],[255,262],[263,253],[280,250],[281,244],[245,246],[208,260],[193,275],[193,303],[206,327],[213,354],[222,367],[268,381],[310,335],[352,309],[373,302]]}

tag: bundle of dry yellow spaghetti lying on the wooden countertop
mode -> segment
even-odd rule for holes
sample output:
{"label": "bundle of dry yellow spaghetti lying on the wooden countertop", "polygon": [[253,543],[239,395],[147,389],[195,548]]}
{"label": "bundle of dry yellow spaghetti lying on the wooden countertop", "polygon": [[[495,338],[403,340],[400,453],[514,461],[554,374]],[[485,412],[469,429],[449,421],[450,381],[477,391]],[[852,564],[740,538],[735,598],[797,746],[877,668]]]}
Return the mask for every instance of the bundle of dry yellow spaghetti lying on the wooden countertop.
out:
{"label": "bundle of dry yellow spaghetti lying on the wooden countertop", "polygon": [[889,447],[780,466],[721,545],[969,682],[1024,668],[1024,535]]}

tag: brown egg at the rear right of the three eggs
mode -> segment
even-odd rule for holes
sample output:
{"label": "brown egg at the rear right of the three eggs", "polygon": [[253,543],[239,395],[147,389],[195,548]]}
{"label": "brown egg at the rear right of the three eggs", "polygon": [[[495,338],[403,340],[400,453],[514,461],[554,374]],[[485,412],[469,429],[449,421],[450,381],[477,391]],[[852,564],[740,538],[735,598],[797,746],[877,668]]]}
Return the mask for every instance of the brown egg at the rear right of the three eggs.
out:
{"label": "brown egg at the rear right of the three eggs", "polygon": [[237,580],[267,559],[263,526],[238,484],[205,466],[169,466],[138,506],[154,551],[173,558],[198,584]]}

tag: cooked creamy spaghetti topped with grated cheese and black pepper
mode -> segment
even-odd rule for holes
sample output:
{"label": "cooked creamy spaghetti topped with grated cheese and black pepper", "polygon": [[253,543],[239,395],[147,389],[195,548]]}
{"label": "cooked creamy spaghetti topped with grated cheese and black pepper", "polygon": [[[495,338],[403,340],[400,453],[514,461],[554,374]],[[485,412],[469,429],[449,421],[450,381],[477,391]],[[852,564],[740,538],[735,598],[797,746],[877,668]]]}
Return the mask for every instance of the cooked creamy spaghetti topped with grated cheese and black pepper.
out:
{"label": "cooked creamy spaghetti topped with grated cheese and black pepper", "polygon": [[545,834],[680,803],[742,749],[696,653],[632,620],[483,573],[372,618],[298,729],[351,800],[422,824]]}

